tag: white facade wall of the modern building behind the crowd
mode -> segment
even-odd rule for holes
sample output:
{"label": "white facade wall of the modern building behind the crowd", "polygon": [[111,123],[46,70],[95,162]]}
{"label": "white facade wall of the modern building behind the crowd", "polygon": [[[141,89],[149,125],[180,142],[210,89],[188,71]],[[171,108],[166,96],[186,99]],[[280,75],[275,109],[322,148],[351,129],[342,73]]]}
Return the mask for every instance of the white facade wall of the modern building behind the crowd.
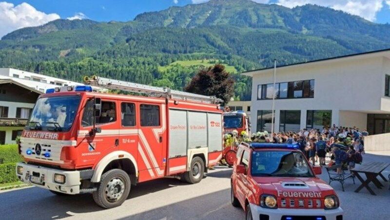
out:
{"label": "white facade wall of the modern building behind the crowd", "polygon": [[[306,127],[307,110],[332,110],[332,124],[336,125],[340,124],[339,110],[390,111],[388,106],[381,108],[384,77],[390,72],[388,66],[390,62],[384,58],[347,57],[278,68],[276,83],[314,79],[314,98],[276,99],[274,130],[279,130],[280,110],[301,110],[301,128]],[[257,86],[270,83],[273,83],[272,69],[254,73],[251,105],[254,129],[257,129],[257,110],[272,110],[272,100],[257,100]]]}

